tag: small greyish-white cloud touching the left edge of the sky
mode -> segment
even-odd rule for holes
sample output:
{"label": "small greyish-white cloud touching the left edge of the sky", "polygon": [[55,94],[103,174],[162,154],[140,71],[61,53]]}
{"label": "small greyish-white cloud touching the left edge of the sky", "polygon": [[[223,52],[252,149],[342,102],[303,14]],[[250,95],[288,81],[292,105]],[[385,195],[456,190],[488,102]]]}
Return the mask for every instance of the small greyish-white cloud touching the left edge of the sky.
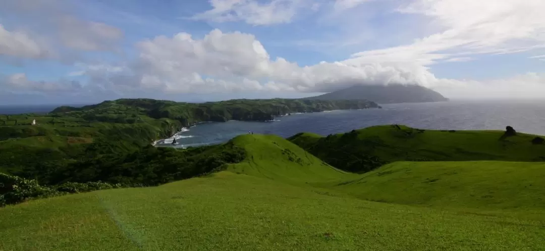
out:
{"label": "small greyish-white cloud touching the left edge of the sky", "polygon": [[46,46],[23,32],[9,32],[0,25],[0,55],[20,58],[45,58],[50,56]]}

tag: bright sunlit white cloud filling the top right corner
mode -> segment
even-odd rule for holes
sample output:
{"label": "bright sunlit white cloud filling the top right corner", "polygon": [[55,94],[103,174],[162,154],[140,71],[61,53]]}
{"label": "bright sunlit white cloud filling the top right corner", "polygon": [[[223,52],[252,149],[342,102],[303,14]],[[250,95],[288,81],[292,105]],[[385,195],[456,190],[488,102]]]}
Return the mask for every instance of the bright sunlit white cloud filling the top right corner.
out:
{"label": "bright sunlit white cloud filling the top right corner", "polygon": [[[434,59],[459,55],[514,53],[545,47],[543,9],[542,0],[416,0],[398,11],[425,15],[432,19],[430,23],[444,27],[444,31],[410,45],[389,48],[393,53],[385,54],[395,57],[395,53],[408,50],[404,55],[413,53],[415,59],[430,64]],[[445,50],[451,52],[442,52]],[[440,56],[433,56],[437,53]]]}

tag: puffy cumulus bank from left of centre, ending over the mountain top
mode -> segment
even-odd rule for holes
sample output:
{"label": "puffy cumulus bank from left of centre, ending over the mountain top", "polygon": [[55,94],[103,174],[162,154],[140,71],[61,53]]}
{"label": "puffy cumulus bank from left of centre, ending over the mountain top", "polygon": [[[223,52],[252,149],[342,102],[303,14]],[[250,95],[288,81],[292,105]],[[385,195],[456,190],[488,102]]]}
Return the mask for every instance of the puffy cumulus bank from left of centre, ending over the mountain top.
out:
{"label": "puffy cumulus bank from left of centre, ending over the mountain top", "polygon": [[[211,31],[202,39],[178,33],[136,45],[138,57],[118,66],[85,66],[83,74],[111,88],[164,92],[327,92],[352,85],[428,83],[433,75],[418,64],[322,62],[301,67],[269,53],[254,35]],[[112,70],[116,69],[116,70]]]}

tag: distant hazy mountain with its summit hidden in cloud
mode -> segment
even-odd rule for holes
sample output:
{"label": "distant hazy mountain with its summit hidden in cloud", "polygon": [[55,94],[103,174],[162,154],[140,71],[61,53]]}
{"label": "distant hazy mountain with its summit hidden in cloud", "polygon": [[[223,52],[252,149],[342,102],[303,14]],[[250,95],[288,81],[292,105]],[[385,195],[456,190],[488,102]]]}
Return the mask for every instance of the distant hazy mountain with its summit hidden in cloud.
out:
{"label": "distant hazy mountain with its summit hidden in cloud", "polygon": [[432,89],[418,85],[353,86],[305,99],[366,99],[379,104],[437,102],[449,100]]}

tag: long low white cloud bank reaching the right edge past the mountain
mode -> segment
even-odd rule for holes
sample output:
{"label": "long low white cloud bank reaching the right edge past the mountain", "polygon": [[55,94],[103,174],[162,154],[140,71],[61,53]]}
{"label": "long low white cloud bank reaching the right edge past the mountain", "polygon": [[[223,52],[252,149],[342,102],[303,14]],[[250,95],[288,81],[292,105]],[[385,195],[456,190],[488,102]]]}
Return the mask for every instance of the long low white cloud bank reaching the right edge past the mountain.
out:
{"label": "long low white cloud bank reaching the right edge past the mountain", "polygon": [[[413,53],[387,60],[385,55],[390,50],[373,51],[345,61],[301,67],[284,58],[271,59],[251,34],[223,33],[219,29],[202,39],[179,33],[171,38],[161,36],[141,41],[136,47],[139,56],[134,62],[124,66],[87,66],[84,75],[119,93],[142,89],[164,93],[311,93],[352,85],[402,83],[431,87],[453,98],[545,94],[545,75],[534,73],[505,80],[438,79],[425,64],[443,58],[440,54],[428,54],[423,61],[410,62]],[[376,63],[377,58],[381,63]],[[448,59],[462,62],[470,58]]]}

